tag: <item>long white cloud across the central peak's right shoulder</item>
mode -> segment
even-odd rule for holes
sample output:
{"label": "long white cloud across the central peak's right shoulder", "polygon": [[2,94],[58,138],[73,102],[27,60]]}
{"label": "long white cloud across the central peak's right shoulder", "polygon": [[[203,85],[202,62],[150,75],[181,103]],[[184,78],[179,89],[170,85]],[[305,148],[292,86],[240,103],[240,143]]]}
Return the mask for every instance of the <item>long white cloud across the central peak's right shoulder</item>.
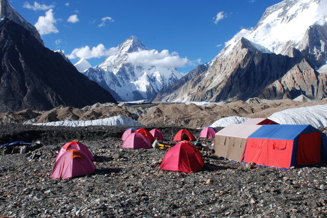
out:
{"label": "long white cloud across the central peak's right shoulder", "polygon": [[[198,60],[197,60],[198,61]],[[133,64],[145,64],[156,66],[183,67],[187,64],[194,65],[187,57],[180,57],[177,52],[170,53],[169,50],[140,50],[128,53],[126,62]]]}

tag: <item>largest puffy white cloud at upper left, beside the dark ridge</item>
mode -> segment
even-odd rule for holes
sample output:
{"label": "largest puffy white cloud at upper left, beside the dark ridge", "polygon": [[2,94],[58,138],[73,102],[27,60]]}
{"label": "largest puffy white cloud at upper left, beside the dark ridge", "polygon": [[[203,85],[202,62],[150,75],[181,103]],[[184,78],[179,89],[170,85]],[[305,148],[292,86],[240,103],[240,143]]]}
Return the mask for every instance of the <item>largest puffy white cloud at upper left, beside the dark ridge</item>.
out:
{"label": "largest puffy white cloud at upper left, beside the dark ridge", "polygon": [[53,17],[52,9],[45,12],[45,16],[40,16],[34,25],[41,35],[49,33],[59,33],[55,27],[56,19]]}

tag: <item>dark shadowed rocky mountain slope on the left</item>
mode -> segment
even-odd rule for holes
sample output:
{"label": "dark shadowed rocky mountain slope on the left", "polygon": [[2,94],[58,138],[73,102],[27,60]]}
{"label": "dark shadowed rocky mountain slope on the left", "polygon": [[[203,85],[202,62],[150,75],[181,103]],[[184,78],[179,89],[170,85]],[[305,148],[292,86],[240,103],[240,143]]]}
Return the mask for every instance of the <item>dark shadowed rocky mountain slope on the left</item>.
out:
{"label": "dark shadowed rocky mountain slope on the left", "polygon": [[0,110],[49,110],[59,105],[82,108],[116,102],[58,52],[8,19],[0,22]]}

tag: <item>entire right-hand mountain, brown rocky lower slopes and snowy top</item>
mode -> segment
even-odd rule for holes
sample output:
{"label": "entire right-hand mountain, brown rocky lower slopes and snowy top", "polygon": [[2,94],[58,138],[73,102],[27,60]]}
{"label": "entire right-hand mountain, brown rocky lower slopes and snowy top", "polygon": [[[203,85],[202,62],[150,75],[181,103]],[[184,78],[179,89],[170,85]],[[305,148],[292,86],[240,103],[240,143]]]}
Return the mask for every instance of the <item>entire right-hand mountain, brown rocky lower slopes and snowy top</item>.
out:
{"label": "entire right-hand mountain, brown rocky lower slopes and snowy top", "polygon": [[252,30],[243,29],[226,43],[207,70],[156,99],[327,97],[326,8],[324,0],[285,0],[267,8]]}

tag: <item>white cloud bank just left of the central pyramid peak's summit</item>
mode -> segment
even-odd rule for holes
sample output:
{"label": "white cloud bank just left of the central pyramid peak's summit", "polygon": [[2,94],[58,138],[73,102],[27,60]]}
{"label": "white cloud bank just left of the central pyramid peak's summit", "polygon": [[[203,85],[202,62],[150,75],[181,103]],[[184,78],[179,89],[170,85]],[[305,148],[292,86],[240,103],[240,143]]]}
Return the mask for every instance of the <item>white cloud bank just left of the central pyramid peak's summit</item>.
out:
{"label": "white cloud bank just left of the central pyramid peak's summit", "polygon": [[103,56],[110,56],[114,55],[117,52],[117,48],[109,48],[106,49],[103,44],[98,44],[96,47],[93,47],[90,49],[89,46],[81,47],[81,48],[75,48],[71,54],[66,55],[70,59],[75,58],[82,58],[90,59],[93,57],[103,57]]}

